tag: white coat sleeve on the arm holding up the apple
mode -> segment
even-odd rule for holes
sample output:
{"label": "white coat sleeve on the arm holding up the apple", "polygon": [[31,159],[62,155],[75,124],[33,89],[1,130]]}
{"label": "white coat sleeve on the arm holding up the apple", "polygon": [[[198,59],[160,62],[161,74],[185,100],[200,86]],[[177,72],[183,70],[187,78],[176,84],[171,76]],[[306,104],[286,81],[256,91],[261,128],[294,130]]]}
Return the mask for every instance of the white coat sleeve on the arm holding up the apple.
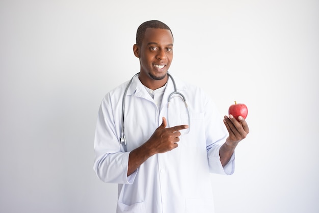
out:
{"label": "white coat sleeve on the arm holding up the apple", "polygon": [[231,175],[235,168],[235,155],[233,154],[230,161],[224,167],[220,161],[219,150],[228,137],[228,131],[223,123],[223,117],[220,115],[217,106],[212,100],[207,98],[205,104],[206,121],[206,150],[208,156],[209,171],[211,173]]}

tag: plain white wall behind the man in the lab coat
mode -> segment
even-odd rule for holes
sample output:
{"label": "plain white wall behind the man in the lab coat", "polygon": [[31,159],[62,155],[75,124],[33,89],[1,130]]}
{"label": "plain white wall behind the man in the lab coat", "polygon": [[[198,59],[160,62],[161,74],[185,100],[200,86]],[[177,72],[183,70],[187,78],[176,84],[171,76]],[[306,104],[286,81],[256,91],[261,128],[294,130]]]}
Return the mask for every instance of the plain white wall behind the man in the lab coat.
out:
{"label": "plain white wall behind the man in the lab coat", "polygon": [[96,115],[139,71],[150,19],[173,31],[171,73],[223,115],[249,108],[235,174],[211,175],[216,212],[318,212],[319,2],[109,2],[0,2],[0,212],[115,212],[92,169]]}

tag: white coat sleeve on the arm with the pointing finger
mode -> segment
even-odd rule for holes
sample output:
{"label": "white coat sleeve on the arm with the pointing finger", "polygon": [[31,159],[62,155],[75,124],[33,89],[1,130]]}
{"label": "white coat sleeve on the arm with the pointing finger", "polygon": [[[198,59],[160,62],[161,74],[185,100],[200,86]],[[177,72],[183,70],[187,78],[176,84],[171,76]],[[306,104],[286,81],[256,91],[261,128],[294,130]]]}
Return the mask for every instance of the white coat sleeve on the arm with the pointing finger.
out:
{"label": "white coat sleeve on the arm with the pointing finger", "polygon": [[118,128],[112,110],[112,102],[105,96],[97,117],[94,139],[95,162],[93,169],[104,182],[131,184],[137,170],[127,176],[129,152],[119,143]]}

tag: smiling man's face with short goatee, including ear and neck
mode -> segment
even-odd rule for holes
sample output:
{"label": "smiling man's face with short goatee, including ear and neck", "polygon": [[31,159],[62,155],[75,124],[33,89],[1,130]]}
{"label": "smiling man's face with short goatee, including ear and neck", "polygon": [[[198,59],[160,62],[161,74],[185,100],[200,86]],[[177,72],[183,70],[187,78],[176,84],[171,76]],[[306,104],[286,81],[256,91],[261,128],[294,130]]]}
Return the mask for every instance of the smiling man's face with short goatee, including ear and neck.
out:
{"label": "smiling man's face with short goatee, including ear and neck", "polygon": [[134,54],[140,59],[140,81],[150,89],[167,82],[167,72],[173,59],[173,36],[169,30],[145,31],[141,46],[134,45]]}

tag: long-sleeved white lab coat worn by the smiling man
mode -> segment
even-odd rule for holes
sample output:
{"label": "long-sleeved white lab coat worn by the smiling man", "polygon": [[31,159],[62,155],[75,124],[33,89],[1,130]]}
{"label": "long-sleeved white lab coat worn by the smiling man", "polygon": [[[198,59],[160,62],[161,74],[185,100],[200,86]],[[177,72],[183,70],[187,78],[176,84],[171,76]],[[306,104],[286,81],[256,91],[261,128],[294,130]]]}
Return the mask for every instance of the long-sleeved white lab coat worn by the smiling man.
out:
{"label": "long-sleeved white lab coat worn by the smiling man", "polygon": [[[127,177],[129,151],[146,142],[167,117],[168,96],[174,91],[169,81],[159,111],[138,76],[126,95],[124,132],[127,152],[119,142],[122,97],[127,82],[112,90],[101,102],[94,141],[94,170],[104,182],[119,183],[117,212],[180,213],[214,212],[209,172],[232,174],[234,156],[223,168],[219,148],[227,137],[216,105],[198,87],[175,79],[190,110],[190,132],[180,136],[178,147],[155,154]],[[188,124],[183,101],[170,104],[169,122]],[[174,115],[174,116],[171,116]],[[185,120],[186,119],[186,120]]]}

